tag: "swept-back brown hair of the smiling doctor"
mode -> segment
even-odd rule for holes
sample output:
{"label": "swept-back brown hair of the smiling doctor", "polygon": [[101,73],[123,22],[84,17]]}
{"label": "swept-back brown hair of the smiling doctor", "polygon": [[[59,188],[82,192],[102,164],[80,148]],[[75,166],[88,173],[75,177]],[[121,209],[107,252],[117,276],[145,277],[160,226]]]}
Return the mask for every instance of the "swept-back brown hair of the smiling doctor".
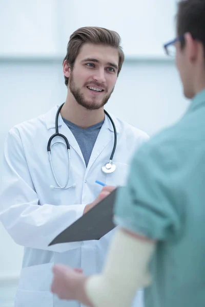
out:
{"label": "swept-back brown hair of the smiling doctor", "polygon": [[[67,46],[67,54],[64,61],[67,60],[71,70],[74,67],[75,59],[80,52],[80,48],[84,43],[93,43],[96,45],[111,46],[118,49],[119,61],[118,61],[118,71],[117,76],[124,62],[124,52],[120,47],[120,36],[117,32],[111,31],[105,28],[99,27],[84,27],[79,28],[70,36],[70,40]],[[63,61],[63,63],[64,63]],[[68,77],[65,77],[65,84],[68,86]]]}

